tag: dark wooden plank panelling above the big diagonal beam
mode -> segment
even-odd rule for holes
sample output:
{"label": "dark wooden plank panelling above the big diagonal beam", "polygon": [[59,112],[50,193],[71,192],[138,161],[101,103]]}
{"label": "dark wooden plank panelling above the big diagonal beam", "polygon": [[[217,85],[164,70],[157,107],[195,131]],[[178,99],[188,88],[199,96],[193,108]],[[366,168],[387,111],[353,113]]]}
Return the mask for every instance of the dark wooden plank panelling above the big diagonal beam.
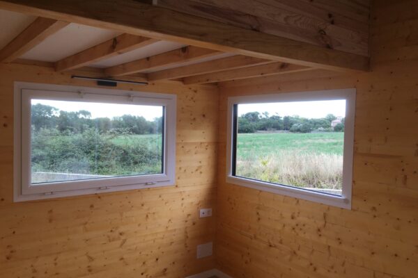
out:
{"label": "dark wooden plank panelling above the big diagonal beam", "polygon": [[369,56],[369,0],[157,0],[206,19]]}

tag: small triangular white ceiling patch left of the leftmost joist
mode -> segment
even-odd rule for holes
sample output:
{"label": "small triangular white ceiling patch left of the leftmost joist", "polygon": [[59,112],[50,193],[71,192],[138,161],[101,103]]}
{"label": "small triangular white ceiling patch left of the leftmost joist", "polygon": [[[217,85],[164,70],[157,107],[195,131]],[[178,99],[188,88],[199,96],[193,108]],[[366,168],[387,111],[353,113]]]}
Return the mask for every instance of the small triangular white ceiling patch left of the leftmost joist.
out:
{"label": "small triangular white ceiling patch left of the leftmost joist", "polygon": [[31,15],[0,10],[0,49],[22,33],[35,19]]}

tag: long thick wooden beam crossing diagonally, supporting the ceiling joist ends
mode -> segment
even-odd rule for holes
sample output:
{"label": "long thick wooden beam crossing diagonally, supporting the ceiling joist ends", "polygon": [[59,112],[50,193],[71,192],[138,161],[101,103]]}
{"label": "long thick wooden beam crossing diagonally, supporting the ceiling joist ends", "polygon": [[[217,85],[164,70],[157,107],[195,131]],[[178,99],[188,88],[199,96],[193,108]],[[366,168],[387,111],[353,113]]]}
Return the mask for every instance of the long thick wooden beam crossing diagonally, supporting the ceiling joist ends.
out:
{"label": "long thick wooden beam crossing diagonally, supporting the ceiling joist ends", "polygon": [[[131,0],[1,0],[0,8],[325,70],[369,71],[369,58]],[[110,13],[111,12],[111,13]]]}

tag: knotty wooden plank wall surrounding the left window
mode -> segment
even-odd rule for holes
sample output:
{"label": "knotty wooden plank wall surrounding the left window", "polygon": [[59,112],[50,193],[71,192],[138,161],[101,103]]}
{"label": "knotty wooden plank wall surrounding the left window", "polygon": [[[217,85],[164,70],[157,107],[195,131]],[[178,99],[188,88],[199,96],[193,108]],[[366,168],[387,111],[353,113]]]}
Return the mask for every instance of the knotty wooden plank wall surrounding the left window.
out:
{"label": "knotty wooden plank wall surrounding the left window", "polygon": [[216,87],[119,87],[178,95],[176,186],[13,203],[13,81],[93,84],[0,66],[0,277],[184,278],[215,267],[196,245],[215,238],[215,216],[198,210],[216,205]]}

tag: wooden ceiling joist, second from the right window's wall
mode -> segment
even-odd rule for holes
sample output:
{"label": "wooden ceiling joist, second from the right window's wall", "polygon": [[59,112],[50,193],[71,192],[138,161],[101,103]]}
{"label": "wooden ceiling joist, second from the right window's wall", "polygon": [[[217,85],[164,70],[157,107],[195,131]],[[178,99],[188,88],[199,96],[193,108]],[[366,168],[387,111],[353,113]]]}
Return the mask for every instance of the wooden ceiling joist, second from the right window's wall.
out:
{"label": "wooden ceiling joist, second from the right window's wall", "polygon": [[183,67],[175,67],[169,70],[151,72],[148,74],[148,80],[159,81],[167,79],[178,79],[185,76],[209,74],[211,72],[221,72],[222,70],[233,70],[239,69],[241,67],[249,67],[250,65],[263,65],[266,63],[272,63],[272,61],[249,56],[236,55],[217,60],[210,60],[194,65],[185,65]]}

